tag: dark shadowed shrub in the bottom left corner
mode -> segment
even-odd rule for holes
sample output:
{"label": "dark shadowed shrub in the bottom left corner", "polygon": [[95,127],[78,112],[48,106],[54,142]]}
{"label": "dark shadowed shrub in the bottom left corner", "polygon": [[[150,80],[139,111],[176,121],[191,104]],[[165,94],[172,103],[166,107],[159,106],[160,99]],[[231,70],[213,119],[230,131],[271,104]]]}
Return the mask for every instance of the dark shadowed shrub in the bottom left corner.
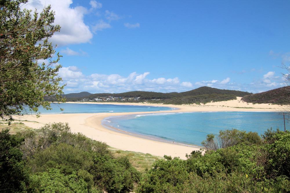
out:
{"label": "dark shadowed shrub in the bottom left corner", "polygon": [[0,132],[0,192],[21,192],[25,190],[27,178],[19,146],[23,138]]}

